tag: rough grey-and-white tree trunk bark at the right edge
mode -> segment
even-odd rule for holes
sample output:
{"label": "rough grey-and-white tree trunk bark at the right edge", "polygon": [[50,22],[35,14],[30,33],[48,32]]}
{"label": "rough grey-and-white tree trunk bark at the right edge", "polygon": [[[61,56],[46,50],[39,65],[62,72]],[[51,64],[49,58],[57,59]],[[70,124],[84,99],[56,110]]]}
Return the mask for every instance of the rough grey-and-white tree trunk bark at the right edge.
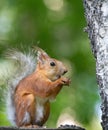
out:
{"label": "rough grey-and-white tree trunk bark at the right edge", "polygon": [[108,0],[83,0],[96,75],[102,100],[103,130],[108,130]]}

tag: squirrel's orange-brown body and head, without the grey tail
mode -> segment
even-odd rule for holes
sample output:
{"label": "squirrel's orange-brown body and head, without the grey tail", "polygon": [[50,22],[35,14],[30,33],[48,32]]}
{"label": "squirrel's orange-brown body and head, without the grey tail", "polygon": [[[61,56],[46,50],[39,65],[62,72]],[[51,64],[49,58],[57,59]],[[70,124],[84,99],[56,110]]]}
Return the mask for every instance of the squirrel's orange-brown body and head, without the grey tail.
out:
{"label": "squirrel's orange-brown body and head, without the grey tail", "polygon": [[[50,62],[54,62],[55,66],[51,66]],[[47,121],[50,100],[57,96],[63,85],[69,85],[69,79],[62,77],[66,72],[62,62],[50,58],[44,51],[39,52],[35,72],[22,79],[15,90],[15,121],[18,127],[42,126]]]}

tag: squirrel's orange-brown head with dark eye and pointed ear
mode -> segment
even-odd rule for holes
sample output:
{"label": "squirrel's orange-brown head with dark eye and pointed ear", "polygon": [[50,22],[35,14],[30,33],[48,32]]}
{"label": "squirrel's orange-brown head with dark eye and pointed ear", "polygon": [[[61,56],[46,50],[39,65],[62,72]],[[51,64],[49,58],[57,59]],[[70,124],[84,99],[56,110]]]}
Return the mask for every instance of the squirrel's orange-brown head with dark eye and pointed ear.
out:
{"label": "squirrel's orange-brown head with dark eye and pointed ear", "polygon": [[68,71],[61,61],[49,57],[42,49],[39,49],[37,52],[37,62],[37,68],[39,68],[39,71],[51,81],[59,79]]}

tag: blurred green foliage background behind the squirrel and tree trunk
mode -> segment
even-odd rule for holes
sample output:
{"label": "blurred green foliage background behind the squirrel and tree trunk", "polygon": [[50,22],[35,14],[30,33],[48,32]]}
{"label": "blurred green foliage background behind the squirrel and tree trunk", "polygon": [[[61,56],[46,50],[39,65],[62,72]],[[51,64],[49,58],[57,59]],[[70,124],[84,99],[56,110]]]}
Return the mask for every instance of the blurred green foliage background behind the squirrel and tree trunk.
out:
{"label": "blurred green foliage background behind the squirrel and tree trunk", "polygon": [[[8,65],[6,48],[38,45],[69,68],[72,83],[51,104],[47,127],[75,120],[88,130],[100,129],[95,59],[84,27],[82,0],[0,0],[0,67]],[[9,126],[0,84],[0,125]]]}

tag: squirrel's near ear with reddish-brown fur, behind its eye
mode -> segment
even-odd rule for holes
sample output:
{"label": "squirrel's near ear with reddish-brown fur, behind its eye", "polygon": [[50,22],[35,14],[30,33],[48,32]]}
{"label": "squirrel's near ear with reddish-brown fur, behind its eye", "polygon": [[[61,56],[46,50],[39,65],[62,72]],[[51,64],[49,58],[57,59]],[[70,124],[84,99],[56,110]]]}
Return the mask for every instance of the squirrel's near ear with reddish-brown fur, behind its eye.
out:
{"label": "squirrel's near ear with reddish-brown fur, behind its eye", "polygon": [[38,63],[44,64],[45,61],[49,58],[48,54],[44,51],[37,52],[37,61]]}

